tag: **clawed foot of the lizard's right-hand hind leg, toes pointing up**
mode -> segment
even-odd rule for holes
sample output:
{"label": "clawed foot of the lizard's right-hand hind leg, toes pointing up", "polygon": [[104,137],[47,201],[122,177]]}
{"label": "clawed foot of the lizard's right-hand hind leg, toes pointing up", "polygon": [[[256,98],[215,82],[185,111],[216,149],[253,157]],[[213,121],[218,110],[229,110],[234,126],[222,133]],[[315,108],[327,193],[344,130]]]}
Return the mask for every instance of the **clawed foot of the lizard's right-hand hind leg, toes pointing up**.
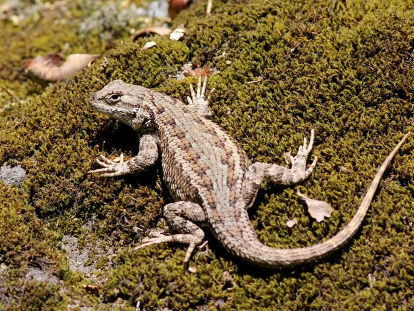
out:
{"label": "clawed foot of the lizard's right-hand hind leg, toes pointing up", "polygon": [[297,151],[297,155],[295,157],[290,155],[290,151],[284,154],[284,158],[288,164],[292,164],[291,171],[304,176],[309,176],[312,173],[313,169],[315,169],[317,157],[315,156],[311,166],[306,169],[306,160],[308,159],[309,153],[312,151],[313,141],[315,140],[315,131],[312,129],[311,131],[311,140],[309,140],[309,144],[304,138],[304,144],[299,147]]}

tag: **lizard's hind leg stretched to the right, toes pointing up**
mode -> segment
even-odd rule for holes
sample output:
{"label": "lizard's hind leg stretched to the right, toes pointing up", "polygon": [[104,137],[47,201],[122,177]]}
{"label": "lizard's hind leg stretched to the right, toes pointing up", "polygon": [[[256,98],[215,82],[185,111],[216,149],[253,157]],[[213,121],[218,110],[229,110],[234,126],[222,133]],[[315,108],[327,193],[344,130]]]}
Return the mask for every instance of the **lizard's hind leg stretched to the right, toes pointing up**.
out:
{"label": "lizard's hind leg stretched to the right, toes pointing up", "polygon": [[243,200],[247,209],[253,205],[263,179],[275,182],[277,185],[293,185],[311,175],[313,169],[315,169],[317,157],[308,169],[306,169],[306,160],[309,153],[311,153],[314,138],[315,132],[312,130],[309,144],[304,138],[304,144],[299,147],[297,156],[293,157],[290,156],[290,153],[285,153],[286,162],[292,164],[290,169],[262,162],[255,162],[248,167],[244,174],[242,186]]}

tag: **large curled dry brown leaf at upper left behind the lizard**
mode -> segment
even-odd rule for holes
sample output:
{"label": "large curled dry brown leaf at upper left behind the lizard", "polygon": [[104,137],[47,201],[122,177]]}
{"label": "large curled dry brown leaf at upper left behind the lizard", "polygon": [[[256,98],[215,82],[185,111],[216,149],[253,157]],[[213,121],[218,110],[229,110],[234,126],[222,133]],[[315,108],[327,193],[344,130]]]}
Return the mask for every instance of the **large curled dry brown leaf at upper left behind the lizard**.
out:
{"label": "large curled dry brown leaf at upper left behind the lizard", "polygon": [[86,68],[98,57],[99,54],[71,54],[63,62],[63,53],[43,55],[26,62],[26,73],[41,84],[57,82]]}

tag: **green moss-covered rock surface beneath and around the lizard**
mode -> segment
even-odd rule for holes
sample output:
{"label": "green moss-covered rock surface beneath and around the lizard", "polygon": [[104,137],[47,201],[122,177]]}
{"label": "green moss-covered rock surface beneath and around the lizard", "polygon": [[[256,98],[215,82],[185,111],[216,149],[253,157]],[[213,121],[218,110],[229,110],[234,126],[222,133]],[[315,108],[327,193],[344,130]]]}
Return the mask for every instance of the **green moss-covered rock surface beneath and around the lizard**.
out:
{"label": "green moss-covered rock surface beneath and around the lizard", "polygon": [[[315,128],[311,178],[264,185],[251,212],[259,238],[273,247],[312,245],[344,227],[376,168],[413,130],[414,8],[406,1],[215,1],[210,17],[205,7],[195,3],[177,17],[184,40],[157,37],[148,50],[141,50],[148,39],[119,44],[105,68],[97,62],[0,115],[0,163],[27,173],[21,189],[0,191],[3,308],[135,310],[137,301],[141,310],[413,308],[413,138],[357,236],[322,261],[262,270],[229,256],[210,234],[190,261],[194,273],[183,271],[185,247],[131,252],[148,230],[165,227],[161,207],[170,199],[159,166],[105,180],[86,173],[99,153],[138,151],[132,129],[88,106],[112,79],[184,100],[195,82],[175,78],[184,64],[217,68],[209,82],[213,120],[252,160],[282,163]],[[297,189],[330,202],[331,218],[311,220]],[[70,268],[66,237],[87,254],[89,274]],[[59,281],[28,279],[33,267]]]}

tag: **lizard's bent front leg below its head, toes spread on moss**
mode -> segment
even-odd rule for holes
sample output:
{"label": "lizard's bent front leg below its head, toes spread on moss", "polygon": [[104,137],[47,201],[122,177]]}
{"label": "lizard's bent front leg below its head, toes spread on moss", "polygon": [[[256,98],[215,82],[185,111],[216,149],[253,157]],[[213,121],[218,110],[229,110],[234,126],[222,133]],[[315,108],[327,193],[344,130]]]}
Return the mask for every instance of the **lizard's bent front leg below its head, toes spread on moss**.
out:
{"label": "lizard's bent front leg below its head, toes spread on moss", "polygon": [[112,177],[121,176],[129,173],[141,173],[150,169],[158,159],[157,138],[154,135],[143,135],[139,140],[139,153],[134,158],[124,162],[124,156],[121,154],[119,163],[112,162],[104,156],[100,156],[101,160],[97,162],[101,164],[102,169],[88,171],[90,174],[101,173],[100,176]]}

